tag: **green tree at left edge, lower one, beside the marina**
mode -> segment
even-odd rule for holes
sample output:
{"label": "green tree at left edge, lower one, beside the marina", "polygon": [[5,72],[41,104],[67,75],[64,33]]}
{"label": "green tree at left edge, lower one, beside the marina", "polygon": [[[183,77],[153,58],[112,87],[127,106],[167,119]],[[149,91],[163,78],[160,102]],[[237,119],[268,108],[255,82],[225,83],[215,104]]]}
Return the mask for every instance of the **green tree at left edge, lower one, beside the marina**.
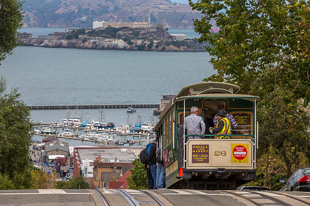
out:
{"label": "green tree at left edge, lower one, beside the marina", "polygon": [[9,177],[16,189],[30,188],[29,146],[33,127],[30,110],[16,88],[7,93],[6,80],[0,79],[0,174]]}

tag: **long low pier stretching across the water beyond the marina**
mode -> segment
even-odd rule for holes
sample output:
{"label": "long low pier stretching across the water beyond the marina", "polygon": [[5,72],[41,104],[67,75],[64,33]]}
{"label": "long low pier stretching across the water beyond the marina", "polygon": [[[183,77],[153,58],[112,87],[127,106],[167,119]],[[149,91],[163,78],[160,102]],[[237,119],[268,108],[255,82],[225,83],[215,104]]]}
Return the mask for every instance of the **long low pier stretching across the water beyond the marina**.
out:
{"label": "long low pier stretching across the water beyond the marina", "polygon": [[28,105],[30,110],[158,108],[159,104]]}

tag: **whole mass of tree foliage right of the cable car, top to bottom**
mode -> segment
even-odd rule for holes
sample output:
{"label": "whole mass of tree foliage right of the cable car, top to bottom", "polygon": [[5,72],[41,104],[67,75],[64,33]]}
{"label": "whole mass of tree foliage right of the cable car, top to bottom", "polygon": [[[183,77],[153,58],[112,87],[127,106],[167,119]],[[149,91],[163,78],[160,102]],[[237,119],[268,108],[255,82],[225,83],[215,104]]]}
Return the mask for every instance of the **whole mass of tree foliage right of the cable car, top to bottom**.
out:
{"label": "whole mass of tree foliage right of the cable car, top to bottom", "polygon": [[[206,49],[217,72],[204,80],[234,83],[242,93],[262,98],[257,105],[258,158],[266,160],[266,152],[275,149],[289,177],[302,166],[304,155],[310,161],[308,3],[201,0],[189,5],[203,14],[194,21],[195,31],[200,43],[210,43]],[[210,30],[213,20],[218,33]]]}

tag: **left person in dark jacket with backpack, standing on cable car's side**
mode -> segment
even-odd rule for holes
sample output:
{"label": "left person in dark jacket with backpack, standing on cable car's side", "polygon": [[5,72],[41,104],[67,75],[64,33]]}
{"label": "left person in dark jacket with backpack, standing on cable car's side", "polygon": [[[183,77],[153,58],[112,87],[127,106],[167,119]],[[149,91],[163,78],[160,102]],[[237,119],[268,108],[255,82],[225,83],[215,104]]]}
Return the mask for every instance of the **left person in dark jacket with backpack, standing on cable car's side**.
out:
{"label": "left person in dark jacket with backpack, standing on cable car's side", "polygon": [[150,169],[150,173],[152,176],[152,181],[153,181],[153,187],[151,189],[157,189],[156,185],[156,171],[157,171],[157,166],[156,166],[156,143],[154,139],[150,139],[149,143],[146,145],[147,148],[147,166],[146,168]]}

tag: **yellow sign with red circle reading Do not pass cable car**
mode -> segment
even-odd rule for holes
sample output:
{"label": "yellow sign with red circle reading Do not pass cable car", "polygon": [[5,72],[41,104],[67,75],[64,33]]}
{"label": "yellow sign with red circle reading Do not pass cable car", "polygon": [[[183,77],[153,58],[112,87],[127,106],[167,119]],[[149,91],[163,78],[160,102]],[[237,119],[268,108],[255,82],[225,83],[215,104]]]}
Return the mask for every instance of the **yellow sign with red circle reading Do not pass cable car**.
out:
{"label": "yellow sign with red circle reading Do not pass cable car", "polygon": [[231,163],[248,163],[248,151],[248,144],[231,144]]}

